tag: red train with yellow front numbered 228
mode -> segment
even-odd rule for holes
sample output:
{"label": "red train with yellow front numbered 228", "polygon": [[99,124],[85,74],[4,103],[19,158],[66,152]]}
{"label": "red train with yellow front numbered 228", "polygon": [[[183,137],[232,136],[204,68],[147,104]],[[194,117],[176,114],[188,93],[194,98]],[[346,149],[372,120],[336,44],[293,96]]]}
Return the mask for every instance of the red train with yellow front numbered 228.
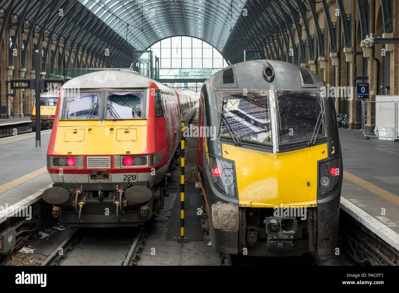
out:
{"label": "red train with yellow front numbered 228", "polygon": [[136,226],[163,207],[190,96],[130,70],[71,79],[59,92],[43,200],[70,226]]}

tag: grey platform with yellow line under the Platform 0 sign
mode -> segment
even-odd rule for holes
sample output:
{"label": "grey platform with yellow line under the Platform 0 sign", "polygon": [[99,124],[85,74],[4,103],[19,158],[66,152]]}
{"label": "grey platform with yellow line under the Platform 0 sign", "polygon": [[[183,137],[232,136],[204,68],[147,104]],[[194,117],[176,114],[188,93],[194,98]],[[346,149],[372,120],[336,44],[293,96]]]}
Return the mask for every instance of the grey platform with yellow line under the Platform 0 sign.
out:
{"label": "grey platform with yellow line under the Platform 0 sign", "polygon": [[399,250],[399,144],[340,129],[341,208]]}

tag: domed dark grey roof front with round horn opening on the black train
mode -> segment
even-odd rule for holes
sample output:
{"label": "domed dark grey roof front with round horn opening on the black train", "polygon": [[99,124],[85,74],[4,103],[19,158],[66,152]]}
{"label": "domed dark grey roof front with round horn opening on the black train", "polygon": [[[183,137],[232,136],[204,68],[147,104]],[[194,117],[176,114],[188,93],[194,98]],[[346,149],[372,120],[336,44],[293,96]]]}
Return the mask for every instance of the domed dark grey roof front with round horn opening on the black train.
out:
{"label": "domed dark grey roof front with round horn opening on the black train", "polygon": [[316,74],[297,65],[277,60],[253,60],[226,67],[205,81],[214,89],[298,89],[314,90],[325,85]]}

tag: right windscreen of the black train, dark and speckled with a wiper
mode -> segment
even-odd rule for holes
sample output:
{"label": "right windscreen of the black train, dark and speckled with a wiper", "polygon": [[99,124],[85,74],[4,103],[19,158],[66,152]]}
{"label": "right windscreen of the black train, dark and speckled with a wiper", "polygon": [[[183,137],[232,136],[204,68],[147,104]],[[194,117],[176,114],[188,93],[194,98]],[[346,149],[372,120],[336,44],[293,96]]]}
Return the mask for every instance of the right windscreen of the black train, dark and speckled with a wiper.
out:
{"label": "right windscreen of the black train, dark and speckled with a wiper", "polygon": [[326,135],[319,91],[280,90],[276,99],[280,144]]}

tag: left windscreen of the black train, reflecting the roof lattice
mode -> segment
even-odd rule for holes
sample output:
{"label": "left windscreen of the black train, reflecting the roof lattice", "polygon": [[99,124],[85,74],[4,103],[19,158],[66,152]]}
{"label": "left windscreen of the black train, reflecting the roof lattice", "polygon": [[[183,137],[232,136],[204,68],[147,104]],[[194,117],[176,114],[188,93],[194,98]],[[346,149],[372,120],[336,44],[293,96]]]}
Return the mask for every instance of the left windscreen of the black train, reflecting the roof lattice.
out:
{"label": "left windscreen of the black train, reflecting the roof lattice", "polygon": [[[267,91],[222,92],[221,135],[247,143],[271,144]],[[233,138],[234,140],[235,138]]]}

